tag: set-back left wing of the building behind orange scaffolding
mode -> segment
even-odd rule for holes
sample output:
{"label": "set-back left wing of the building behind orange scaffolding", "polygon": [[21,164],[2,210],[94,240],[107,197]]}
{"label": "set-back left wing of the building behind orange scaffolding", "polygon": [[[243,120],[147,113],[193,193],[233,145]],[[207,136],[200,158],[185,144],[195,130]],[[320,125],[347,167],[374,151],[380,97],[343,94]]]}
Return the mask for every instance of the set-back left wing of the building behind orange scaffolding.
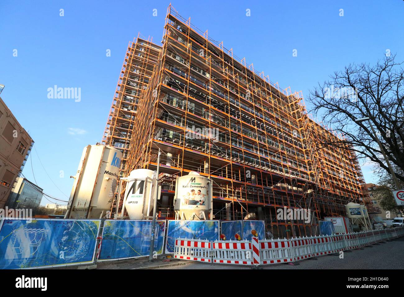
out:
{"label": "set-back left wing of the building behind orange scaffolding", "polygon": [[[116,87],[105,126],[102,144],[122,151],[122,174],[125,171],[129,144],[132,139],[135,114],[141,92],[147,89],[161,47],[138,37],[129,42],[126,57]],[[116,191],[118,191],[118,186]]]}

